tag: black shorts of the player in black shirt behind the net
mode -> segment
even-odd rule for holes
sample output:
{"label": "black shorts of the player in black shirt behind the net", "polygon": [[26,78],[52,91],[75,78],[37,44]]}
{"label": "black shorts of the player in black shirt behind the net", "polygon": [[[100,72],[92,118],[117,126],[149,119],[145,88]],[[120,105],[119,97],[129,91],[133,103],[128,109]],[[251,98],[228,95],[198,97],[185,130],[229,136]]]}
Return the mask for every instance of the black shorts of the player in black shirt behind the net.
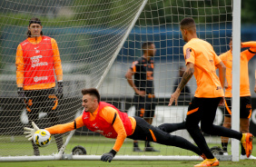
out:
{"label": "black shorts of the player in black shirt behind the net", "polygon": [[153,118],[156,100],[154,95],[147,94],[145,97],[135,94],[133,96],[135,115],[142,118]]}

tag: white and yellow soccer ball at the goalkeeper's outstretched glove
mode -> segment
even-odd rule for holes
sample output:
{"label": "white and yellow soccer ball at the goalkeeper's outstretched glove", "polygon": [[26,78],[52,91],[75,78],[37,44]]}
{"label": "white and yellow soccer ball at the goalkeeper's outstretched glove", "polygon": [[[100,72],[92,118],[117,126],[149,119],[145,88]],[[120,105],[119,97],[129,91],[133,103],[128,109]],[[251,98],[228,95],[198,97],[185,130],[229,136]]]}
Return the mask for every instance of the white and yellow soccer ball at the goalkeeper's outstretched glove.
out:
{"label": "white and yellow soccer ball at the goalkeeper's outstretched glove", "polygon": [[33,140],[38,147],[46,147],[52,140],[51,133],[40,129],[34,133]]}

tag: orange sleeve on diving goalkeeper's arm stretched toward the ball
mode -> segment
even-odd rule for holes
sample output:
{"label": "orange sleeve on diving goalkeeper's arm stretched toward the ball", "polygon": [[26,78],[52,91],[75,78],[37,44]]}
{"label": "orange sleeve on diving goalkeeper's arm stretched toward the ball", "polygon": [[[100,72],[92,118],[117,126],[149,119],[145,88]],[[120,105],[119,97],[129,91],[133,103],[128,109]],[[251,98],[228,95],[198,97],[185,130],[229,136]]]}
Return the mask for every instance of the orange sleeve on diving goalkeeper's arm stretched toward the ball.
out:
{"label": "orange sleeve on diving goalkeeper's arm stretched toward the ball", "polygon": [[74,129],[78,129],[84,126],[84,122],[82,119],[82,115],[77,117],[74,122],[71,123],[64,123],[64,124],[57,124],[54,126],[51,126],[49,128],[45,128],[49,133],[51,134],[57,134],[57,133],[66,133],[69,131],[73,131]]}

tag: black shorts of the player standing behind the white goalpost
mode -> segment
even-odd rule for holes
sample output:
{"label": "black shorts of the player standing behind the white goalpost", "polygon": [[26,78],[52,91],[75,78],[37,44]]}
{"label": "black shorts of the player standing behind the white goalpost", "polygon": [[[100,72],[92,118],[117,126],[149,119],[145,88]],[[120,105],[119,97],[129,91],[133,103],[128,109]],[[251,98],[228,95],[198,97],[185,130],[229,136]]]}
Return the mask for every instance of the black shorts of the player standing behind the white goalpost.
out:
{"label": "black shorts of the player standing behind the white goalpost", "polygon": [[[224,115],[231,117],[231,97],[226,97]],[[251,118],[251,96],[240,97],[240,118]]]}

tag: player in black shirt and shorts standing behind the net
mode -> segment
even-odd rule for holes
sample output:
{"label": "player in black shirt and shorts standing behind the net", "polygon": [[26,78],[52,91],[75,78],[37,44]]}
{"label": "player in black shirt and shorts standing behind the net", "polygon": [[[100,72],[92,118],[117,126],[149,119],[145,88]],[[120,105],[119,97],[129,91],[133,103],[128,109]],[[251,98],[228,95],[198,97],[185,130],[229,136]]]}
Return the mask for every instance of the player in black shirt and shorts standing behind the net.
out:
{"label": "player in black shirt and shorts standing behind the net", "polygon": [[[142,117],[147,123],[152,124],[155,97],[153,86],[153,59],[156,53],[155,45],[152,42],[143,43],[143,56],[133,62],[125,77],[134,90],[133,103],[135,104],[136,116]],[[133,78],[134,75],[134,78]],[[134,80],[134,82],[133,82]],[[159,152],[154,150],[150,142],[145,142],[145,152]],[[133,142],[133,152],[142,152],[138,142]]]}

